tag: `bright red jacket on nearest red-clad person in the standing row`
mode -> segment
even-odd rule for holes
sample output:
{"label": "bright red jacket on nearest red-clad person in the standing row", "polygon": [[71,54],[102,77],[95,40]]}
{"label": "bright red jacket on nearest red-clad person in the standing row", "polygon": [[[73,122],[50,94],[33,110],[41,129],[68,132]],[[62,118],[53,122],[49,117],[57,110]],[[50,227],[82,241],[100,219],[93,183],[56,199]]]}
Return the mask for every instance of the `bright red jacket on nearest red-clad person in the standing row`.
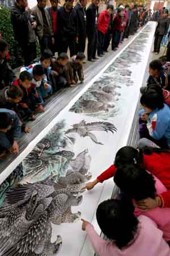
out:
{"label": "bright red jacket on nearest red-clad person in the standing row", "polygon": [[102,13],[99,15],[97,30],[99,30],[104,35],[108,30],[110,18],[111,15],[108,14],[107,10],[102,11]]}

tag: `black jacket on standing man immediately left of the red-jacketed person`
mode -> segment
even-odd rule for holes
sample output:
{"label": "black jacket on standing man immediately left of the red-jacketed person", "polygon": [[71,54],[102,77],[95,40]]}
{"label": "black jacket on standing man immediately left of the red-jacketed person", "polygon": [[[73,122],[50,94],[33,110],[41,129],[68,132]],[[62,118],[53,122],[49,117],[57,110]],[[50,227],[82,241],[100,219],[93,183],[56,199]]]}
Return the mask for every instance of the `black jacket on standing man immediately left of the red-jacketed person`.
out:
{"label": "black jacket on standing man immediately left of the red-jacketed person", "polygon": [[86,19],[87,19],[87,35],[91,35],[95,33],[96,27],[96,11],[98,16],[98,8],[91,3],[86,10]]}

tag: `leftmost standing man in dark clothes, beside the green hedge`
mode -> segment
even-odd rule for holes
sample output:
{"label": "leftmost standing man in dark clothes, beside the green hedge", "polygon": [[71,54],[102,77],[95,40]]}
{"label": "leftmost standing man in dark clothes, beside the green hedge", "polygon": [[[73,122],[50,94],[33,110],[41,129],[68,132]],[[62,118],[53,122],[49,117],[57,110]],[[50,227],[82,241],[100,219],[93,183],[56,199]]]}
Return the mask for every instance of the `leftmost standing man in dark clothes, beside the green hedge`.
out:
{"label": "leftmost standing man in dark clothes, beside the green hedge", "polygon": [[[18,42],[18,47],[22,50],[25,66],[28,66],[36,58],[36,22],[27,10],[27,6],[27,0],[16,0],[11,9],[14,37]],[[22,59],[21,56],[19,57]]]}

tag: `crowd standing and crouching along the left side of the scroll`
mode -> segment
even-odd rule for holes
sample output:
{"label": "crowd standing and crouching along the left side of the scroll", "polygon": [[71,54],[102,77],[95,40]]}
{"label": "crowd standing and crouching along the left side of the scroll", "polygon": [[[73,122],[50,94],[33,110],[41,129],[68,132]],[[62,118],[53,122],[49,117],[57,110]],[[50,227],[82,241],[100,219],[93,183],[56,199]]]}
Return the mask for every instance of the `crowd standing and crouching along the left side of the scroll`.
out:
{"label": "crowd standing and crouching along the left side of the scroll", "polygon": [[[27,121],[44,112],[44,102],[58,89],[75,86],[84,80],[83,63],[87,45],[87,60],[94,62],[108,51],[116,51],[125,38],[137,32],[147,21],[142,6],[113,5],[98,13],[99,0],[73,0],[46,9],[46,0],[28,9],[27,0],[16,0],[11,9],[11,23],[18,46],[17,59],[24,59],[19,77],[10,68],[8,43],[0,39],[0,156],[19,152],[18,139],[22,131],[29,133]],[[41,56],[35,59],[37,39]],[[70,57],[68,56],[68,48]]]}

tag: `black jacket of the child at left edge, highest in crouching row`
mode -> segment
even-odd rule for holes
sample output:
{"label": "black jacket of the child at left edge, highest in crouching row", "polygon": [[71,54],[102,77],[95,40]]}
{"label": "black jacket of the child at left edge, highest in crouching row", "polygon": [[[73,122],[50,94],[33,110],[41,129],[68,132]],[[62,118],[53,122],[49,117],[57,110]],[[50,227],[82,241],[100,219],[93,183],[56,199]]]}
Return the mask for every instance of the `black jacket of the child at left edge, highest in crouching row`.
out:
{"label": "black jacket of the child at left edge, highest in crouching row", "polygon": [[8,61],[0,60],[0,89],[3,89],[5,86],[12,84],[15,79],[15,74],[12,71]]}

